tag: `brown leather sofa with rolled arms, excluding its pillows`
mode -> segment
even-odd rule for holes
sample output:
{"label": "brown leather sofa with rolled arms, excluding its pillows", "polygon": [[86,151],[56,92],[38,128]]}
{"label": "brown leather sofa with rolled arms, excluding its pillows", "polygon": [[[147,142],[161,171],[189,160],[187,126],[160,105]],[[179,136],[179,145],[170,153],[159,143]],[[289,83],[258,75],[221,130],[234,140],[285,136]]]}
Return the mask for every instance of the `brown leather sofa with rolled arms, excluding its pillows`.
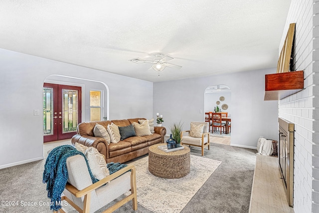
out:
{"label": "brown leather sofa with rolled arms, excluding its pillows", "polygon": [[153,144],[164,143],[166,134],[165,127],[154,127],[155,133],[147,136],[134,136],[120,141],[118,143],[110,143],[104,139],[95,137],[93,128],[96,123],[104,126],[107,129],[108,124],[113,122],[119,127],[125,127],[138,120],[147,120],[145,118],[132,118],[127,120],[112,120],[112,121],[97,121],[83,122],[78,125],[77,134],[71,139],[73,145],[75,143],[83,144],[87,147],[96,148],[101,154],[106,157],[106,162],[124,163],[149,153],[149,146]]}

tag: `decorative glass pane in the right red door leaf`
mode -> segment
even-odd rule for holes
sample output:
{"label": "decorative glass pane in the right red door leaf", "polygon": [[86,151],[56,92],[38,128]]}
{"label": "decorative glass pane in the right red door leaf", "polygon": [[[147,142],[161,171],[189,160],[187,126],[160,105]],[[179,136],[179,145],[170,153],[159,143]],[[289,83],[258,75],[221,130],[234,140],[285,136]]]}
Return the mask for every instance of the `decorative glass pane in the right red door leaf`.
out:
{"label": "decorative glass pane in the right red door leaf", "polygon": [[78,91],[62,89],[62,133],[76,131],[78,123]]}

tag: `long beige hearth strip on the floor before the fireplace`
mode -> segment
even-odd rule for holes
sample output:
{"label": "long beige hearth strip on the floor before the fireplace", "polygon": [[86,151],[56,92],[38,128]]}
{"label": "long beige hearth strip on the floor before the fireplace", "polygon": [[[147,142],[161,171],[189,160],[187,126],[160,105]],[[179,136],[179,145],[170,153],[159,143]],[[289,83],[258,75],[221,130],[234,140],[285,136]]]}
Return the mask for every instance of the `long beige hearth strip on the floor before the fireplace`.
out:
{"label": "long beige hearth strip on the floor before the fireplace", "polygon": [[249,213],[294,213],[287,202],[277,157],[256,156]]}

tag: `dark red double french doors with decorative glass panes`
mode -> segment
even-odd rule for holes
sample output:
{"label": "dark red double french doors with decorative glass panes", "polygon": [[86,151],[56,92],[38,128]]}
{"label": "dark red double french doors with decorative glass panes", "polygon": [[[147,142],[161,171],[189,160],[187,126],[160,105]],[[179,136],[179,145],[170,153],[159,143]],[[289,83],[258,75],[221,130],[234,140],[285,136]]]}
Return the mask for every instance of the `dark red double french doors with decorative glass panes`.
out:
{"label": "dark red double french doors with decorative glass panes", "polygon": [[43,84],[43,142],[72,138],[81,122],[81,87]]}

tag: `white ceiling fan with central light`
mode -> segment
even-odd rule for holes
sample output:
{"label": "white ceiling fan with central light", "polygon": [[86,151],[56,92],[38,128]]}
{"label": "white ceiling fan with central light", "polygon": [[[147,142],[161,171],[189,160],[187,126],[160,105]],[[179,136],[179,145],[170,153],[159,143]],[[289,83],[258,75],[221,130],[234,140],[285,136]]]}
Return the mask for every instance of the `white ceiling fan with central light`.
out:
{"label": "white ceiling fan with central light", "polygon": [[[161,53],[156,53],[155,54],[155,58],[153,59],[153,61],[147,61],[147,60],[144,60],[143,58],[133,58],[133,59],[131,59],[129,61],[132,61],[132,62],[138,63],[138,64],[141,64],[141,63],[153,63],[152,68],[155,71],[158,71],[158,72],[160,72],[163,69],[165,69],[166,66],[167,67],[171,67],[171,68],[180,69],[181,66],[179,66],[179,65],[167,63],[167,61],[169,61],[171,59],[174,59],[174,58],[170,57],[168,55],[163,56],[163,54],[161,54]],[[159,77],[160,77],[160,75],[159,75]]]}

